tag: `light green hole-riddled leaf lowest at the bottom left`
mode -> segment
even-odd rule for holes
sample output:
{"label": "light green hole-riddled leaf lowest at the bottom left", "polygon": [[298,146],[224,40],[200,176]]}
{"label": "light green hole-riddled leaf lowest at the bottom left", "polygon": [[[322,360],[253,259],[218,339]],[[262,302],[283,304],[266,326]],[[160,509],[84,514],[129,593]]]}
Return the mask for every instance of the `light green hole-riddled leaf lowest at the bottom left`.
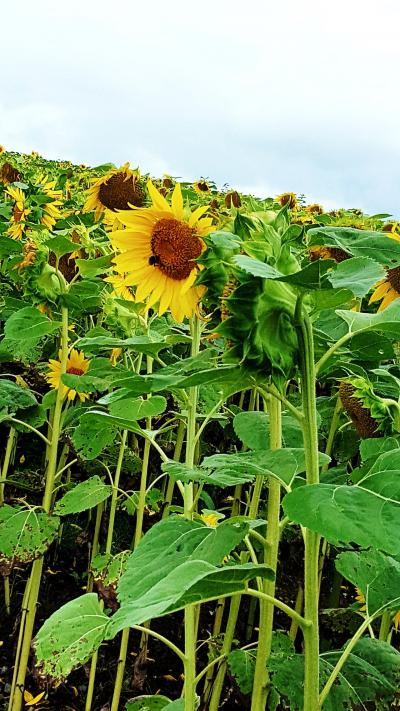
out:
{"label": "light green hole-riddled leaf lowest at the bottom left", "polygon": [[68,676],[98,649],[108,623],[95,593],[67,602],[46,620],[34,640],[41,673],[53,679]]}

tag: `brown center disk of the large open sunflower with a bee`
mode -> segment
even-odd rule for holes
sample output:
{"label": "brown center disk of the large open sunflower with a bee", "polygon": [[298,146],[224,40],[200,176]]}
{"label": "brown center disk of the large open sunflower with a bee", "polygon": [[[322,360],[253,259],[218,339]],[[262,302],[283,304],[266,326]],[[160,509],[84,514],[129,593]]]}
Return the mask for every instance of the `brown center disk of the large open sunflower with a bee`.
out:
{"label": "brown center disk of the large open sunflower with a bee", "polygon": [[202,252],[202,243],[193,227],[165,217],[153,227],[151,250],[153,256],[149,263],[171,279],[181,281],[189,276],[195,266],[194,260]]}

